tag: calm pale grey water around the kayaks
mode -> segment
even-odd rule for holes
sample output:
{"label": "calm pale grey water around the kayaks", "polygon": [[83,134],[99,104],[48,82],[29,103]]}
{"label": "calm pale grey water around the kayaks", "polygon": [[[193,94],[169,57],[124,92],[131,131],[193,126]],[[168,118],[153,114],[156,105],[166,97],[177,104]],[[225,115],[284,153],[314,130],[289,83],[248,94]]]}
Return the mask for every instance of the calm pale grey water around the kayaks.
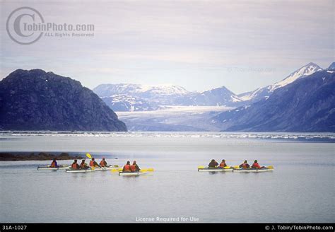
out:
{"label": "calm pale grey water around the kayaks", "polygon": [[[264,135],[264,134],[263,134]],[[332,135],[334,136],[334,134]],[[303,140],[303,139],[302,139]],[[330,139],[334,141],[334,139]],[[220,134],[1,134],[1,151],[90,152],[136,159],[151,175],[40,171],[45,161],[0,162],[1,222],[334,222],[335,143]],[[115,159],[117,158],[117,159]],[[215,158],[258,159],[271,173],[199,173]],[[59,161],[71,163],[71,161]]]}

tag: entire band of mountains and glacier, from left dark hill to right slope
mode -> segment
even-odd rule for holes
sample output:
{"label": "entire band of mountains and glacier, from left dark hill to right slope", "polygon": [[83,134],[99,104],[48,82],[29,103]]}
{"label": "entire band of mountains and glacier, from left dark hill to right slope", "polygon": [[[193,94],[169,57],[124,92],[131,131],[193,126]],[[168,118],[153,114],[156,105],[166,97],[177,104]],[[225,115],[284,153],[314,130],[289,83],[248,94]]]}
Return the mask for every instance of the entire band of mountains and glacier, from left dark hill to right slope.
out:
{"label": "entire band of mountains and glacier, from left dark hill to right slope", "polygon": [[[310,63],[236,95],[222,86],[102,84],[94,92],[40,69],[0,82],[0,130],[335,132],[335,63]],[[121,122],[113,112],[119,111]]]}

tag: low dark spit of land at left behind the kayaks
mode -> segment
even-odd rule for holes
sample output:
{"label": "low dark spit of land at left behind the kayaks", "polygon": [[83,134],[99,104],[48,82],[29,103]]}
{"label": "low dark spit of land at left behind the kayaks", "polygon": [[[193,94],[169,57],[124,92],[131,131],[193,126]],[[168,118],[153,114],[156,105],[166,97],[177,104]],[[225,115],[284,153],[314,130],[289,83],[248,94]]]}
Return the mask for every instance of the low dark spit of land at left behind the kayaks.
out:
{"label": "low dark spit of land at left behind the kayaks", "polygon": [[52,161],[56,158],[59,161],[83,159],[82,156],[59,153],[59,155],[47,152],[0,152],[0,161]]}

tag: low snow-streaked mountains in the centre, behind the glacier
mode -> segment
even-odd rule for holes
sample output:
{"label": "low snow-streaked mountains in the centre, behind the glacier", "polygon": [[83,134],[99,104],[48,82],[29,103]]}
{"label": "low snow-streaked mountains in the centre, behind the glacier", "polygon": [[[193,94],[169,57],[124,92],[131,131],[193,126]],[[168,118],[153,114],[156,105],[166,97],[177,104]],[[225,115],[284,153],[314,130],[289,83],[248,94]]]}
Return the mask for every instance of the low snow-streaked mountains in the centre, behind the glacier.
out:
{"label": "low snow-streaked mountains in the centre, behind the glacier", "polygon": [[102,84],[93,91],[115,111],[156,110],[164,105],[221,106],[242,100],[222,86],[204,92],[189,92],[176,85]]}

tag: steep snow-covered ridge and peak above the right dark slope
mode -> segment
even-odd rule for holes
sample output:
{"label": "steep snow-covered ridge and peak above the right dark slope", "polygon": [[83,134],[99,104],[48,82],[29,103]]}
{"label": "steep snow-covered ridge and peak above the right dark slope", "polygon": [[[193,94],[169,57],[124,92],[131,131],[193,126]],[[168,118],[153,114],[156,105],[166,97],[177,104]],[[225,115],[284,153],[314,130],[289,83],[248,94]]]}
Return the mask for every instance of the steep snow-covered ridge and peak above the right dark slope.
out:
{"label": "steep snow-covered ridge and peak above the right dark slope", "polygon": [[293,73],[288,75],[282,81],[274,83],[270,86],[265,86],[263,88],[257,88],[256,90],[251,92],[241,93],[237,96],[247,103],[256,102],[264,98],[269,98],[269,96],[274,93],[277,88],[282,88],[284,86],[287,86],[289,83],[293,83],[293,81],[296,81],[297,79],[310,76],[316,71],[322,71],[322,68],[320,68],[317,64],[311,62],[309,64],[306,64],[305,66],[302,66],[300,69],[293,71]]}

